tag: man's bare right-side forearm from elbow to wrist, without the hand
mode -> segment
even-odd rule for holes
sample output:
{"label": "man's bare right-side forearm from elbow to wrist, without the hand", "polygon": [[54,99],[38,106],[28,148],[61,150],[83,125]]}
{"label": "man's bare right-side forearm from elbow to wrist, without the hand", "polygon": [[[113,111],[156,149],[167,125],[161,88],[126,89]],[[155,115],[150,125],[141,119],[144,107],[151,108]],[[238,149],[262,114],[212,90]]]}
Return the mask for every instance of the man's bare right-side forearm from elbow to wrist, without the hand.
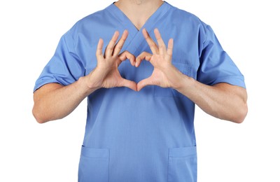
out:
{"label": "man's bare right-side forearm from elbow to wrist, without the hand", "polygon": [[181,94],[191,99],[203,111],[222,120],[242,123],[247,113],[247,94],[242,87],[218,83],[204,85],[193,78],[183,76]]}

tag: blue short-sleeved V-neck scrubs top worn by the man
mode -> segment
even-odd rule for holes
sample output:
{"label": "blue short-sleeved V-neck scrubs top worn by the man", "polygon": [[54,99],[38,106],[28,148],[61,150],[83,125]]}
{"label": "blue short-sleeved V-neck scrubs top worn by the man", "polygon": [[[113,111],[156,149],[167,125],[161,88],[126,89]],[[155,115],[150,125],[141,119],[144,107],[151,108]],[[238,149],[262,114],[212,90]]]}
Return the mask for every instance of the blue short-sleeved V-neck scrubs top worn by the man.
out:
{"label": "blue short-sleeved V-neck scrubs top worn by the man", "polygon": [[[214,31],[195,15],[165,2],[148,19],[153,40],[158,28],[167,44],[174,38],[172,64],[201,83],[230,83],[245,87],[244,77],[223,50]],[[55,55],[36,81],[69,85],[95,66],[99,38],[104,45],[114,31],[129,31],[123,51],[135,56],[151,52],[141,30],[111,6],[78,21],[62,36]],[[105,47],[105,46],[104,46]],[[150,62],[139,68],[126,60],[120,64],[123,78],[139,82],[153,72]],[[194,130],[195,104],[171,88],[127,87],[99,89],[87,97],[87,124],[80,155],[79,181],[197,181]]]}

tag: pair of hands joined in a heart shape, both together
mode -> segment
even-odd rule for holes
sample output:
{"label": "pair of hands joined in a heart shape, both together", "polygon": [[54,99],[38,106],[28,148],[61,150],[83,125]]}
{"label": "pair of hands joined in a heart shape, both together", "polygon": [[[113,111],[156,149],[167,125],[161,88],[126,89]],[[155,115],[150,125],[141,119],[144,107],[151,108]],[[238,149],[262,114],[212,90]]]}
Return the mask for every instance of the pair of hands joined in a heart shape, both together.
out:
{"label": "pair of hands joined in a heart shape, both together", "polygon": [[[169,39],[166,48],[158,29],[154,30],[158,44],[153,41],[146,29],[143,29],[142,33],[151,48],[152,54],[142,52],[139,56],[135,57],[127,50],[120,53],[128,36],[127,30],[123,32],[123,35],[118,42],[119,32],[116,31],[115,34],[113,34],[104,54],[102,53],[104,43],[102,38],[100,38],[96,52],[97,67],[92,71],[92,73],[94,73],[94,76],[91,77],[92,83],[97,84],[98,87],[106,88],[129,87],[135,91],[139,91],[147,85],[174,87],[176,80],[178,80],[178,76],[180,76],[179,73],[181,72],[172,64],[173,39]],[[129,59],[132,66],[136,67],[138,67],[144,59],[151,62],[154,67],[153,73],[150,77],[139,81],[139,83],[122,78],[118,71],[118,66],[126,59]]]}

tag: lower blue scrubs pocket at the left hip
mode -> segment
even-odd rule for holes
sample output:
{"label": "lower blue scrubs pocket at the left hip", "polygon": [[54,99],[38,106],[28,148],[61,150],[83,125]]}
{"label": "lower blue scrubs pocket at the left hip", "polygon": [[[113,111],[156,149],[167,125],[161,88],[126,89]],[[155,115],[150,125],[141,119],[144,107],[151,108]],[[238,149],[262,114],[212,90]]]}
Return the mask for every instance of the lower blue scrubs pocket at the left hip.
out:
{"label": "lower blue scrubs pocket at the left hip", "polygon": [[78,168],[79,182],[109,181],[109,149],[82,146]]}

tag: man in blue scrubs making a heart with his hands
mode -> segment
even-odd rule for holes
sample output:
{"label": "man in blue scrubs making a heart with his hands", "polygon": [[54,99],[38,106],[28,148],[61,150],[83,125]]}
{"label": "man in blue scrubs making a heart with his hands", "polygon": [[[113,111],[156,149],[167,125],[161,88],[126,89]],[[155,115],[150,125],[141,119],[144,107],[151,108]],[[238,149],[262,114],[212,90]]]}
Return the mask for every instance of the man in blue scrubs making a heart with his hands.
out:
{"label": "man in blue scrubs making a heart with his hands", "polygon": [[34,117],[64,118],[85,97],[79,181],[197,181],[195,104],[235,123],[247,113],[244,77],[211,27],[161,0],[117,1],[62,36]]}

